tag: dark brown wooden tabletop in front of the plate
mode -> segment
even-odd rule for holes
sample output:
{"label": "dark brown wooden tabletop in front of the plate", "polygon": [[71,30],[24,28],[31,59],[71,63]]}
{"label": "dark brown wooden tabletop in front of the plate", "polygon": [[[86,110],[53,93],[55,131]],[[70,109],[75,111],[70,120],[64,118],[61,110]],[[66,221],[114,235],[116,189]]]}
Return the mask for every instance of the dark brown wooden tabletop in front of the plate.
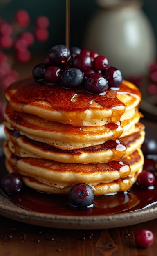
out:
{"label": "dark brown wooden tabletop in front of the plate", "polygon": [[[137,248],[135,234],[150,229],[155,242]],[[38,227],[0,216],[0,256],[156,256],[157,219],[128,227],[67,230]]]}

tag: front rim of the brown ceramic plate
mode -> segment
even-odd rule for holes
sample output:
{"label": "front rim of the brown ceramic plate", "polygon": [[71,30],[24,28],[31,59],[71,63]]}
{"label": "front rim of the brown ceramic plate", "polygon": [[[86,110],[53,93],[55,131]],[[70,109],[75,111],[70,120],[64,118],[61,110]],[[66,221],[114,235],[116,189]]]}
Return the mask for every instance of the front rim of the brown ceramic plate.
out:
{"label": "front rim of the brown ceramic plate", "polygon": [[27,211],[17,207],[0,193],[0,214],[20,222],[43,227],[63,229],[105,229],[123,227],[153,220],[157,216],[157,206],[131,213],[105,216],[68,216]]}

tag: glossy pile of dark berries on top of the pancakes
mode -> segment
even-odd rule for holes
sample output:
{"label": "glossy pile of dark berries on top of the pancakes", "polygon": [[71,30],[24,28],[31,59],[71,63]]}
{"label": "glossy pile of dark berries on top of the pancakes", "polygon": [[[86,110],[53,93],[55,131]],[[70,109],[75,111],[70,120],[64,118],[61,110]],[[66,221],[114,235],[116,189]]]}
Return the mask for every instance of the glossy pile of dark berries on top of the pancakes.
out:
{"label": "glossy pile of dark berries on top of the pancakes", "polygon": [[68,89],[84,86],[94,94],[104,93],[108,88],[118,90],[123,79],[120,70],[109,67],[105,56],[78,47],[68,51],[65,45],[53,46],[45,62],[34,67],[33,76],[36,81],[62,83]]}

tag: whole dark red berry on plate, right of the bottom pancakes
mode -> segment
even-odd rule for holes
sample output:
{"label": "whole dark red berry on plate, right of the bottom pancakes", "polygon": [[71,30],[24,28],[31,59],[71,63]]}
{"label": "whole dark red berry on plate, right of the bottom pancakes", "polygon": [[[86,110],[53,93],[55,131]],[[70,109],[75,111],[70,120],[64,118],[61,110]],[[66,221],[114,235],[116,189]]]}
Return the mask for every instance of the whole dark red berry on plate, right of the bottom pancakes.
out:
{"label": "whole dark red berry on plate, right of the bottom pancakes", "polygon": [[150,171],[142,171],[137,177],[137,182],[142,188],[148,188],[155,184],[155,176]]}

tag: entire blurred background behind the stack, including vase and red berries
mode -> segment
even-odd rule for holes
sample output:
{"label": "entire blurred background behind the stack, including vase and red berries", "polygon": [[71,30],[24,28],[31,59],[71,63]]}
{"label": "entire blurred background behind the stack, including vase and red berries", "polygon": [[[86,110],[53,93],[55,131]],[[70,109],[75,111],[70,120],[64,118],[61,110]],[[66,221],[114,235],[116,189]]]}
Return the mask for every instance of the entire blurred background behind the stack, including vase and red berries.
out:
{"label": "entire blurred background behind the stack, including vase and red berries", "polygon": [[[156,0],[70,1],[70,46],[105,55],[125,79],[139,86],[141,108],[153,120],[157,120],[156,10]],[[59,43],[65,44],[65,0],[0,0],[1,120],[4,90],[31,74]]]}

